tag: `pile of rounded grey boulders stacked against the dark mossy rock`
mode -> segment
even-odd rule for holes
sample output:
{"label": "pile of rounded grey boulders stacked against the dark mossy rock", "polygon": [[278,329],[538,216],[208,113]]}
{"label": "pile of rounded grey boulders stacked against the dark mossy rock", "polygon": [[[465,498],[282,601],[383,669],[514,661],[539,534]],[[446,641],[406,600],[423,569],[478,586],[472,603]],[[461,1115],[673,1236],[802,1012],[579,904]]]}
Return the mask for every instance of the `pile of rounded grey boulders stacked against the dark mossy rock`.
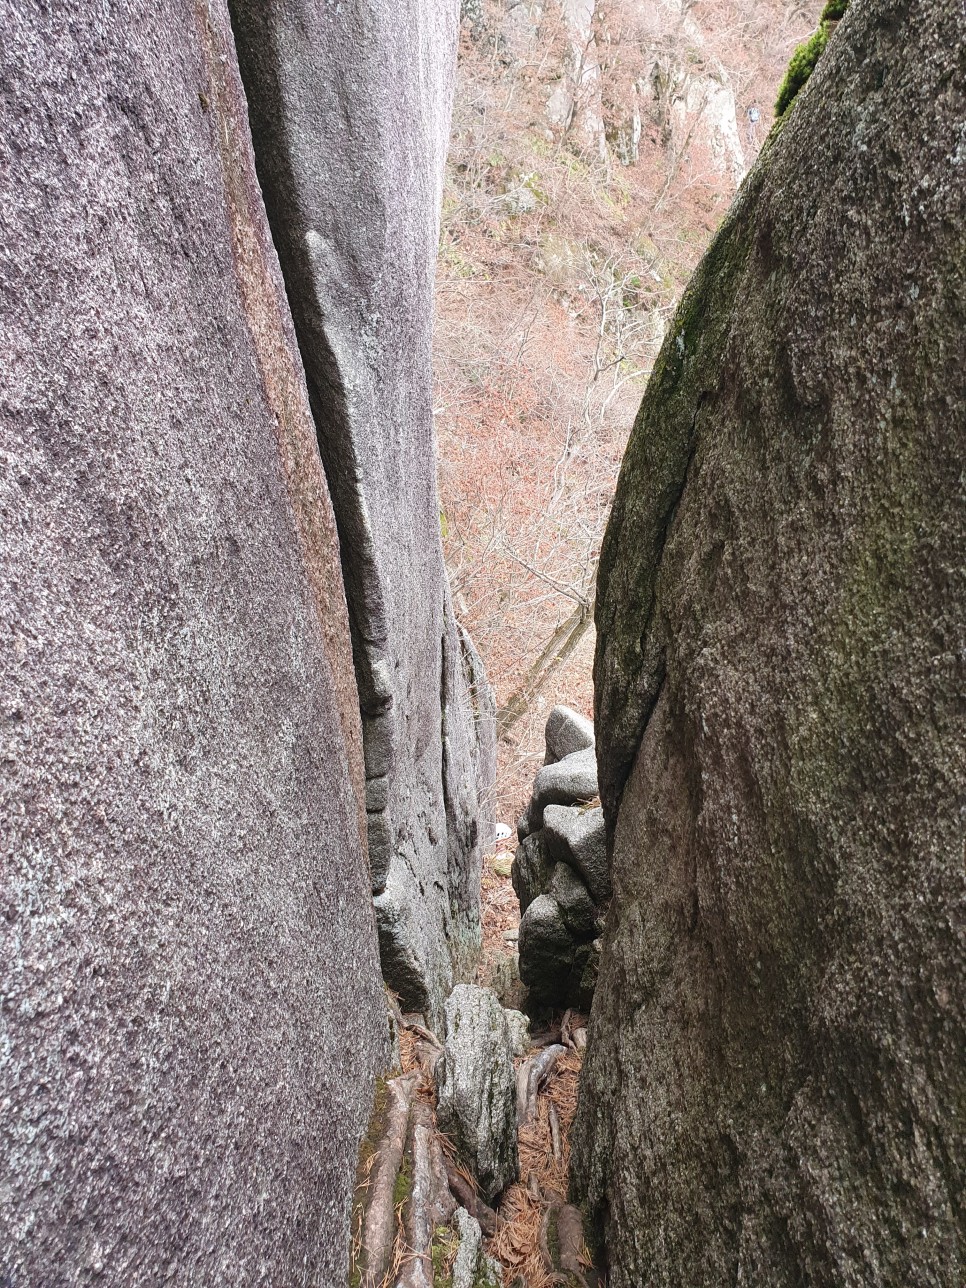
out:
{"label": "pile of rounded grey boulders stacked against the dark mossy rock", "polygon": [[510,872],[520,902],[520,979],[531,1007],[587,1011],[611,898],[594,725],[569,707],[546,723],[546,759]]}

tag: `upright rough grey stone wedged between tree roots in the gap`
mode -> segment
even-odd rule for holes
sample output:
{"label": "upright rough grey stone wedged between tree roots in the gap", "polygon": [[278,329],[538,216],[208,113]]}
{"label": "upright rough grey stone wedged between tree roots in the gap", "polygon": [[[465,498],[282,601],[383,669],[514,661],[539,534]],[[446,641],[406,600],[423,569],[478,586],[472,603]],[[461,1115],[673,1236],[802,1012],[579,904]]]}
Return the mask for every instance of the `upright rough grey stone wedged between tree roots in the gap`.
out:
{"label": "upright rough grey stone wedged between tree roots in the gap", "polygon": [[489,1203],[516,1180],[516,1090],[506,1014],[488,988],[457,984],[446,1003],[438,1121]]}

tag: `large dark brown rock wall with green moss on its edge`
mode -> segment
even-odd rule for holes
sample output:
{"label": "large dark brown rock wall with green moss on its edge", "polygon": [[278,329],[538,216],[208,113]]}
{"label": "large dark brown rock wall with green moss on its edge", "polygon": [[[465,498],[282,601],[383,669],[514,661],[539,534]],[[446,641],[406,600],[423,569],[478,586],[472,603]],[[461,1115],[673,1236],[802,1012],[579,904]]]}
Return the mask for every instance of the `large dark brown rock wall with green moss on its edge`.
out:
{"label": "large dark brown rock wall with green moss on its edge", "polygon": [[573,1136],[614,1288],[962,1283],[965,41],[849,6],[627,450]]}

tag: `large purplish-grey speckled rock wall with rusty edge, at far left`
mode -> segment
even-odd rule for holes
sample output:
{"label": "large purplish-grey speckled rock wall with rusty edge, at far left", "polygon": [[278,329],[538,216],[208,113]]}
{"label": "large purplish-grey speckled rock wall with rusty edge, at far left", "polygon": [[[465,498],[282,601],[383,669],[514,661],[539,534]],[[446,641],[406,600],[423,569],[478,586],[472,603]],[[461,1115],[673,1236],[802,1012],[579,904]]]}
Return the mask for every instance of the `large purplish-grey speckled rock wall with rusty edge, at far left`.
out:
{"label": "large purplish-grey speckled rock wall with rusty edge, at far left", "polygon": [[336,1284],[385,1002],[228,15],[0,28],[0,1280]]}

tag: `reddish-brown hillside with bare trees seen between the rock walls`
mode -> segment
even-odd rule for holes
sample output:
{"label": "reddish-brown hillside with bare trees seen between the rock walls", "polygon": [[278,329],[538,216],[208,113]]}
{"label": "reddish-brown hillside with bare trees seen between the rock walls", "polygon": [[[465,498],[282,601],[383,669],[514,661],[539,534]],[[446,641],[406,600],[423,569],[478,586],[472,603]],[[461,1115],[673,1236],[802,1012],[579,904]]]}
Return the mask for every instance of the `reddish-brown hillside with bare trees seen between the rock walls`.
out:
{"label": "reddish-brown hillside with bare trees seen between the rock walls", "polygon": [[440,524],[513,822],[591,715],[596,560],[688,278],[822,0],[464,0],[435,305]]}

